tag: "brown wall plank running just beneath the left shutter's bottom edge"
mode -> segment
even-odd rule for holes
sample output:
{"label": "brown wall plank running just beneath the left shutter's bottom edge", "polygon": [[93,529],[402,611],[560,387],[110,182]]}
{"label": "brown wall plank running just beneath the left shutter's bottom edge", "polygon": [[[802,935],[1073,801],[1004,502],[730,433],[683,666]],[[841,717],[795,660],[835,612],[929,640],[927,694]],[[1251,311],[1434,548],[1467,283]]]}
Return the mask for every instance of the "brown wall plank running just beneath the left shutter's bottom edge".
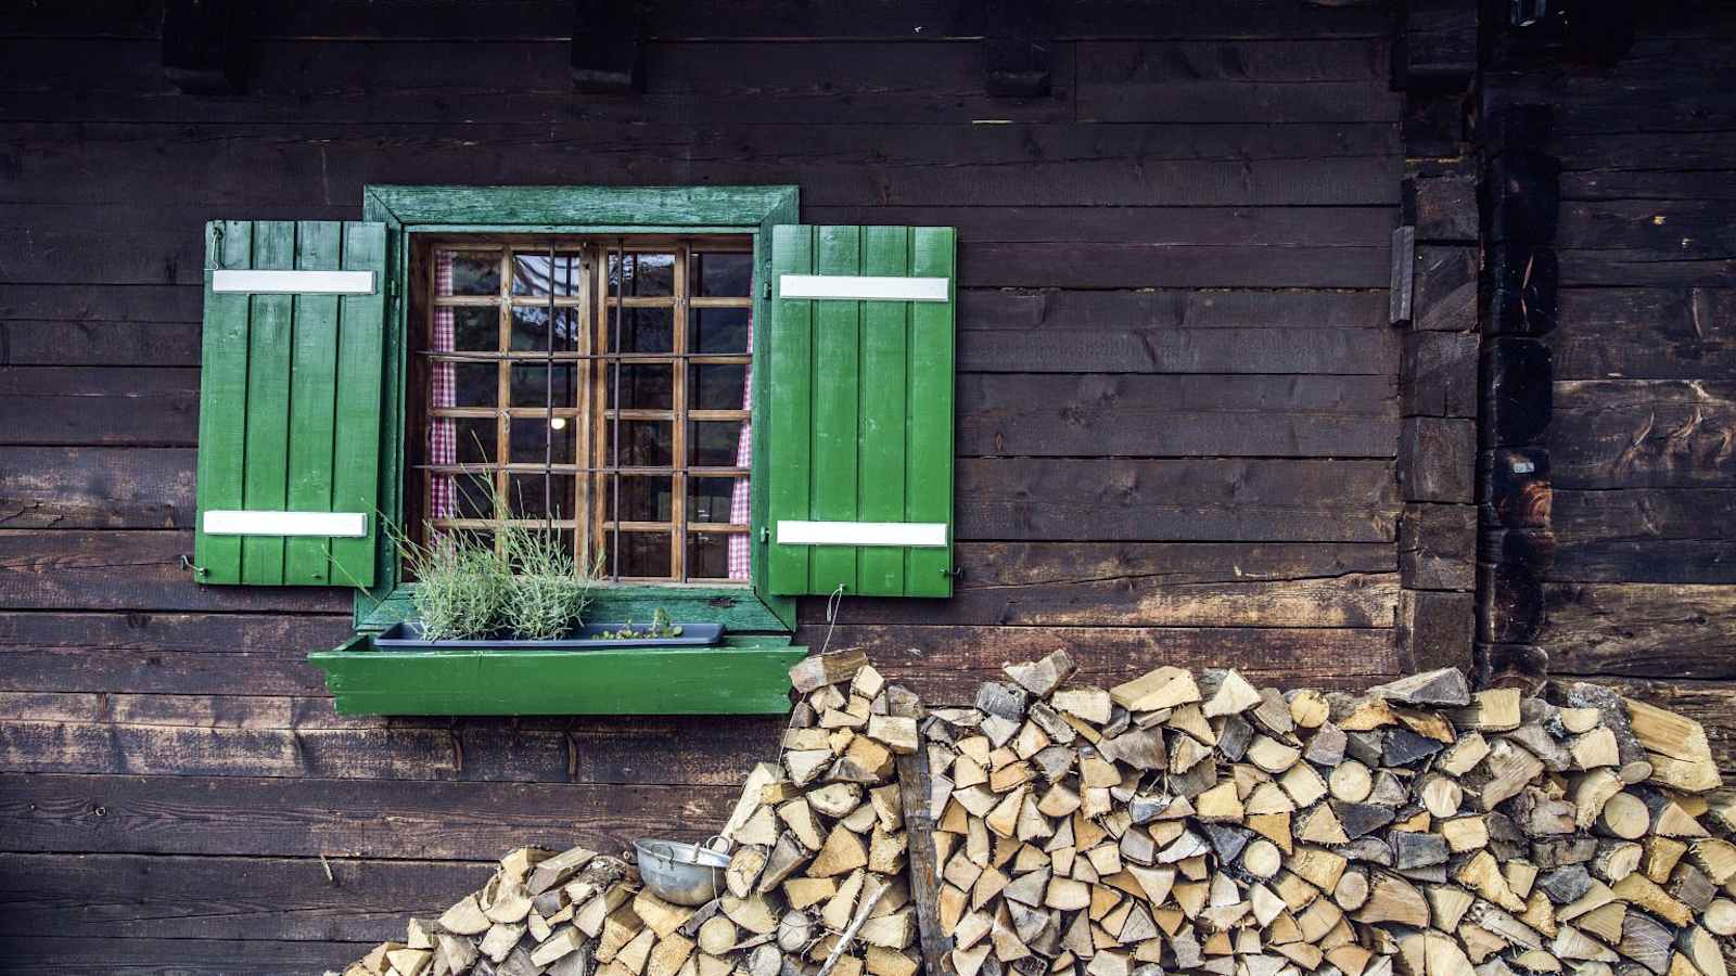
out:
{"label": "brown wall plank running just beneath the left shutter's bottom edge", "polygon": [[0,610],[345,613],[347,589],[203,587],[181,568],[191,531],[0,530]]}

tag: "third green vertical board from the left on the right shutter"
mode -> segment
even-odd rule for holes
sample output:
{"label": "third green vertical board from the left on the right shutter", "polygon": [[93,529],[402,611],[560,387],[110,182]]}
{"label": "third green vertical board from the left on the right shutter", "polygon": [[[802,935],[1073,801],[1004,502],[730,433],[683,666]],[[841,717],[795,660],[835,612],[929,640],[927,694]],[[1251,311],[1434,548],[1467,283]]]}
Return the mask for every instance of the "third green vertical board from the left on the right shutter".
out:
{"label": "third green vertical board from the left on the right shutter", "polygon": [[[910,228],[863,228],[863,274],[910,276]],[[861,302],[861,519],[904,519],[904,457],[910,419],[908,359],[911,302]],[[903,596],[904,549],[863,547],[859,596]]]}

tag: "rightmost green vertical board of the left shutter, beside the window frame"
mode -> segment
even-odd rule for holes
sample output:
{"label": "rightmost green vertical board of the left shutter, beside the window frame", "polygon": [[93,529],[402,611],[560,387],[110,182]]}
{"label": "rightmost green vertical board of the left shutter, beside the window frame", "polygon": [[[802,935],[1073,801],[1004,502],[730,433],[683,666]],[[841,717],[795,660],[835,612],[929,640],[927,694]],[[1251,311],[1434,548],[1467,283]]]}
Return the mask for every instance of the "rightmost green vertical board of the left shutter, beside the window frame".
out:
{"label": "rightmost green vertical board of the left shutter, beside the window frame", "polygon": [[332,507],[368,512],[366,538],[332,540],[332,582],[368,585],[375,578],[375,552],[382,544],[380,413],[385,359],[385,224],[344,224],[344,271],[373,271],[380,288],[372,295],[339,297],[337,318],[337,431]]}

